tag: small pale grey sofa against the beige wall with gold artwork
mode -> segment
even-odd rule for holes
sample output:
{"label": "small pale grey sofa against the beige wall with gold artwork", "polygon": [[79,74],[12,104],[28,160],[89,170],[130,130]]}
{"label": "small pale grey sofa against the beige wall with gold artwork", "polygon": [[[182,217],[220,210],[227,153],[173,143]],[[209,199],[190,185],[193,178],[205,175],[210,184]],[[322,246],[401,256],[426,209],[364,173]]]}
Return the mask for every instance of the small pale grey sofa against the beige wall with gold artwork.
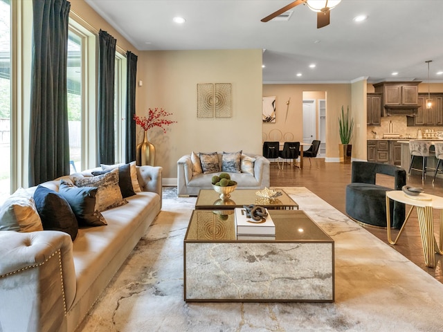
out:
{"label": "small pale grey sofa against the beige wall with gold artwork", "polygon": [[[197,196],[201,189],[213,189],[211,178],[222,172],[230,174],[231,180],[237,182],[238,189],[263,189],[269,187],[269,160],[261,155],[244,154],[240,151],[241,160],[237,172],[226,171],[223,158],[226,154],[217,154],[219,170],[217,172],[203,172],[198,169],[199,160],[195,154],[182,156],[177,161],[177,194],[178,196]],[[196,160],[197,159],[197,160]],[[249,165],[249,167],[247,167]]]}

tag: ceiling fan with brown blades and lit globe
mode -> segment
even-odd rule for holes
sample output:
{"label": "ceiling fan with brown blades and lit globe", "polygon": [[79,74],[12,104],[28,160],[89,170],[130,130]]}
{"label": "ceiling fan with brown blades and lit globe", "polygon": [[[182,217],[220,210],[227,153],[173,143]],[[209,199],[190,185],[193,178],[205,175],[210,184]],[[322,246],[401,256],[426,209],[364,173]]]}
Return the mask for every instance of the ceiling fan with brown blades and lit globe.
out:
{"label": "ceiling fan with brown blades and lit globe", "polygon": [[274,17],[278,17],[278,15],[287,12],[291,8],[294,8],[298,5],[307,5],[310,10],[317,12],[317,28],[323,28],[323,26],[329,25],[329,12],[332,8],[338,5],[341,0],[297,0],[289,3],[289,5],[280,8],[276,12],[273,12],[271,15],[264,17],[261,19],[262,22],[271,21]]}

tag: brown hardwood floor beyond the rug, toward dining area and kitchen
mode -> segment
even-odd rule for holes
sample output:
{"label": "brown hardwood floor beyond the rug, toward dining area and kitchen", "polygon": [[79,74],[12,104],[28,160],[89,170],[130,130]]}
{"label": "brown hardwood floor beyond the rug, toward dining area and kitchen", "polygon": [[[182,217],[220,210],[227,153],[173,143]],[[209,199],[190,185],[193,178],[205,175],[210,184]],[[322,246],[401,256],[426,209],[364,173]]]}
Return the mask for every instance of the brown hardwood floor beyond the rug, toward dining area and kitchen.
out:
{"label": "brown hardwood floor beyond the rug, toward dining area and kitchen", "polygon": [[[342,163],[325,163],[324,158],[316,158],[311,161],[305,158],[305,167],[298,169],[291,165],[284,165],[284,169],[278,169],[276,163],[271,163],[271,187],[307,187],[321,199],[327,201],[337,210],[345,212],[345,187],[350,183],[351,165]],[[407,172],[407,169],[406,169]],[[423,187],[427,194],[443,196],[443,178],[437,178],[435,184],[432,184],[433,176],[427,176],[424,183],[419,172],[412,172],[411,176],[406,179],[408,185]],[[393,187],[391,176],[377,177],[377,184]],[[410,206],[406,205],[406,213]],[[438,231],[440,230],[440,211],[434,211],[434,231],[438,242]],[[386,229],[364,226],[365,230],[374,234],[381,241],[388,244]],[[392,238],[397,236],[397,230],[393,230]],[[417,221],[417,212],[414,209],[408,223],[405,226],[399,241],[395,246],[391,246],[402,255],[417,264],[422,270],[426,271],[435,279],[443,282],[443,257],[435,255],[435,268],[428,268],[424,265],[424,256],[422,250],[422,239],[420,237],[419,226]]]}

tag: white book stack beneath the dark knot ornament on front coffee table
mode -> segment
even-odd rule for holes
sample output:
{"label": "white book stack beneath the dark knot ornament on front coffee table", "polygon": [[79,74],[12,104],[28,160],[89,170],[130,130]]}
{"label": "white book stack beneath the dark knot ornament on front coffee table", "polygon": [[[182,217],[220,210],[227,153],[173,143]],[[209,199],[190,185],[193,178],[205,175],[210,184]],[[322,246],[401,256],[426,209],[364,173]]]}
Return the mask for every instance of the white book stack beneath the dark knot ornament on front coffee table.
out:
{"label": "white book stack beneath the dark knot ornament on front coffee table", "polygon": [[235,208],[234,215],[237,240],[275,240],[275,225],[269,213],[262,221],[248,217],[244,208]]}

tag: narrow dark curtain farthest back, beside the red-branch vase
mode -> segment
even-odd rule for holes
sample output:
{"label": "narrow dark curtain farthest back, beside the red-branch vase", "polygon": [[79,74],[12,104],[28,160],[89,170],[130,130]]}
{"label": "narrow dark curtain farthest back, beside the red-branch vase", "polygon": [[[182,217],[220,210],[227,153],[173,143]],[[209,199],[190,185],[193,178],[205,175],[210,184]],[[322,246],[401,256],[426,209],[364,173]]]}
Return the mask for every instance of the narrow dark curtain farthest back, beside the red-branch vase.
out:
{"label": "narrow dark curtain farthest back, beside the red-branch vase", "polygon": [[130,52],[126,53],[126,163],[136,160],[136,74],[137,56]]}

